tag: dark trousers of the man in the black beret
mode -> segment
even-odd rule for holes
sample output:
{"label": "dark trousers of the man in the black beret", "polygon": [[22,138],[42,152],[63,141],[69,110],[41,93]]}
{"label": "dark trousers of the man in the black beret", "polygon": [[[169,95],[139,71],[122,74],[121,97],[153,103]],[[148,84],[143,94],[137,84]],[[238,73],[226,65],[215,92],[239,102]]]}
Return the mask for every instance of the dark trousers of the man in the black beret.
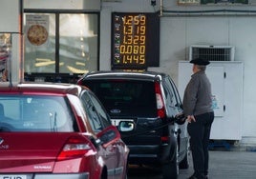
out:
{"label": "dark trousers of the man in the black beret", "polygon": [[214,113],[207,112],[196,115],[195,119],[196,122],[188,123],[187,131],[190,135],[190,149],[192,151],[194,175],[201,179],[204,178],[204,175],[208,174],[208,145]]}

